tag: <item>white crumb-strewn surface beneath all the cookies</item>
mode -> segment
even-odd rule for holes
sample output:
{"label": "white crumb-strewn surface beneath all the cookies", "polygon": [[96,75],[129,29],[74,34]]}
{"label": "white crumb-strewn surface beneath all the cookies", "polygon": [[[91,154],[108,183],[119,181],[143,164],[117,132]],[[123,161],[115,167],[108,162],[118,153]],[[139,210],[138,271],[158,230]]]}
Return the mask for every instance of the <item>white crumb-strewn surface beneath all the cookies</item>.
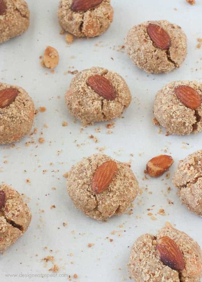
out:
{"label": "white crumb-strewn surface beneath all the cookies", "polygon": [[[191,6],[185,0],[111,2],[114,8],[111,28],[100,37],[75,40],[69,47],[65,35],[59,34],[61,28],[56,14],[58,1],[28,0],[31,12],[29,30],[0,46],[1,82],[20,85],[32,97],[36,109],[40,106],[47,108],[45,113],[38,113],[34,120],[33,128],[38,128],[38,133],[32,136],[35,143],[26,147],[25,142],[32,140],[27,137],[16,143],[15,147],[0,148],[0,181],[11,184],[26,198],[30,197],[28,205],[33,214],[29,230],[0,256],[2,282],[67,281],[67,278],[59,277],[5,277],[5,274],[52,274],[48,271],[52,267],[51,262],[45,268],[41,261],[47,255],[55,257],[60,267],[58,275],[76,273],[76,281],[129,281],[126,264],[132,243],[143,233],[156,234],[166,221],[188,233],[202,246],[202,219],[180,204],[171,181],[178,161],[201,149],[201,134],[167,137],[164,129],[158,134],[159,128],[152,123],[154,96],[160,88],[173,80],[202,80],[202,48],[196,48],[197,38],[202,38],[202,3],[198,0],[195,6]],[[160,19],[167,19],[184,29],[188,38],[188,55],[180,69],[170,74],[148,75],[136,68],[125,52],[116,50],[124,44],[130,27],[143,21]],[[48,45],[54,46],[60,55],[55,74],[40,65],[39,56]],[[107,122],[84,128],[83,133],[80,133],[81,123],[74,123],[74,118],[68,113],[64,94],[73,76],[64,75],[64,72],[73,66],[71,71],[92,66],[105,67],[119,72],[127,81],[132,102],[123,113],[124,119],[116,119],[111,135],[106,134]],[[195,71],[196,68],[198,71]],[[57,98],[58,95],[61,99]],[[67,127],[62,127],[63,121],[68,122]],[[48,128],[44,128],[44,124]],[[95,133],[95,128],[99,126],[101,132]],[[45,144],[38,142],[41,131]],[[88,138],[91,134],[98,138],[97,144]],[[99,152],[96,147],[105,147],[103,153],[119,161],[132,161],[131,168],[140,188],[148,187],[148,191],[143,188],[143,194],[136,198],[132,215],[125,214],[113,217],[108,222],[97,222],[76,210],[69,199],[63,174],[84,156]],[[148,180],[143,180],[146,162],[165,149],[175,161],[170,169],[170,179],[163,175],[157,179],[148,177]],[[57,151],[60,150],[58,156]],[[5,160],[7,164],[4,164]],[[49,165],[50,162],[53,166]],[[43,174],[43,170],[47,172]],[[27,178],[30,184],[26,183]],[[168,186],[171,186],[170,194],[167,194]],[[52,187],[56,187],[56,190],[52,190]],[[168,204],[168,199],[173,205]],[[51,205],[56,205],[56,208],[50,209]],[[151,212],[157,220],[147,215],[147,208],[152,208],[152,205]],[[160,208],[165,209],[166,216],[155,215]],[[41,213],[40,209],[45,212]],[[66,227],[62,225],[63,222],[67,222]],[[120,228],[119,225],[124,227]],[[111,234],[113,230],[114,235]],[[109,239],[113,239],[113,242]],[[89,243],[94,246],[89,248]],[[46,246],[47,250],[44,250]],[[72,278],[72,281],[75,279]]]}

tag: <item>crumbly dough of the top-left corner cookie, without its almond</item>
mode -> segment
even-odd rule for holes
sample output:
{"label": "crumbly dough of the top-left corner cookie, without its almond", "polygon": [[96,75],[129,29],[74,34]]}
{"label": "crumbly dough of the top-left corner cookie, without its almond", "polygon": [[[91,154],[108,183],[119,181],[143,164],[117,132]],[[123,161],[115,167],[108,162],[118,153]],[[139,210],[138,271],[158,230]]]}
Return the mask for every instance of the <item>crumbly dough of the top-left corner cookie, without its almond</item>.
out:
{"label": "crumbly dough of the top-left corner cookie, without its almond", "polygon": [[3,0],[7,9],[0,15],[0,43],[29,28],[29,9],[24,0]]}

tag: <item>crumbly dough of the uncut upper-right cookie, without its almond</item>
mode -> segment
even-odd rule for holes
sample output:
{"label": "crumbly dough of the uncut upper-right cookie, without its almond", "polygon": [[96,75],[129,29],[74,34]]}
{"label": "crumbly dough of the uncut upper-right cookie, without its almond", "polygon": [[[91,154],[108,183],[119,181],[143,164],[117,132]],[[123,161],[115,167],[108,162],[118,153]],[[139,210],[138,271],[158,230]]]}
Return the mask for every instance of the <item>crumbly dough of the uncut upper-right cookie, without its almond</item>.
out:
{"label": "crumbly dough of the uncut upper-right cookie, without its almond", "polygon": [[[147,32],[149,24],[162,27],[171,38],[169,49],[157,48]],[[181,27],[169,21],[147,21],[132,27],[125,41],[128,56],[146,72],[168,73],[179,68],[187,54],[187,37]]]}

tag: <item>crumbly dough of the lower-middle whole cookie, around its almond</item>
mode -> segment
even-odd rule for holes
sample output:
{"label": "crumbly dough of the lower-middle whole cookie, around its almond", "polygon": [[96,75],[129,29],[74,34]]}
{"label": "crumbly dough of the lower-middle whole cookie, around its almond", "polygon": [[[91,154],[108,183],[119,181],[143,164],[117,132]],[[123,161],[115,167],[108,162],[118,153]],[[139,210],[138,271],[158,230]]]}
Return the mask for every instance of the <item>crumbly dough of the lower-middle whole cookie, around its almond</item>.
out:
{"label": "crumbly dough of the lower-middle whole cookie, around its almond", "polygon": [[[116,174],[105,190],[97,194],[96,189],[93,189],[94,176],[97,169],[108,161],[113,164],[115,162]],[[108,177],[105,170],[102,172],[104,176],[100,179],[104,181]],[[115,161],[106,155],[95,154],[72,166],[68,174],[67,191],[76,208],[87,216],[105,221],[108,217],[125,213],[137,196],[139,187],[126,163]]]}

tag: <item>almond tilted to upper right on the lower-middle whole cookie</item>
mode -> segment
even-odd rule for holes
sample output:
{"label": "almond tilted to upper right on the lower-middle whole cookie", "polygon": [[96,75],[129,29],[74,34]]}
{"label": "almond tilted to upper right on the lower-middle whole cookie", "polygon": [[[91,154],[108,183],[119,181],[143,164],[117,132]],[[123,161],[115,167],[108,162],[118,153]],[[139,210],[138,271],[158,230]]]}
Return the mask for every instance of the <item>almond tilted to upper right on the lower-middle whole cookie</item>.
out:
{"label": "almond tilted to upper right on the lower-middle whole cookie", "polygon": [[117,164],[114,161],[106,161],[97,168],[92,180],[92,188],[95,194],[102,193],[108,187],[116,175],[117,169]]}

